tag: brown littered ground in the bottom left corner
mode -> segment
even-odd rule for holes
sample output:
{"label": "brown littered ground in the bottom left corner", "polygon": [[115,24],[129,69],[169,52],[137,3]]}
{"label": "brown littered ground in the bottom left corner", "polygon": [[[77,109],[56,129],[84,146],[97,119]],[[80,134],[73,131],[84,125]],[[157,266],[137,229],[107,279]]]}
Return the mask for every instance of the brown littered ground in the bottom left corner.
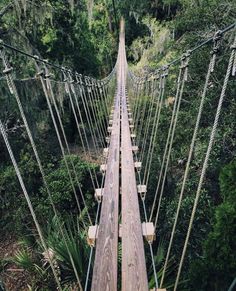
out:
{"label": "brown littered ground in the bottom left corner", "polygon": [[17,239],[11,235],[4,235],[0,238],[0,290],[2,286],[6,291],[29,290],[29,274],[23,269],[19,269],[11,258],[19,250]]}

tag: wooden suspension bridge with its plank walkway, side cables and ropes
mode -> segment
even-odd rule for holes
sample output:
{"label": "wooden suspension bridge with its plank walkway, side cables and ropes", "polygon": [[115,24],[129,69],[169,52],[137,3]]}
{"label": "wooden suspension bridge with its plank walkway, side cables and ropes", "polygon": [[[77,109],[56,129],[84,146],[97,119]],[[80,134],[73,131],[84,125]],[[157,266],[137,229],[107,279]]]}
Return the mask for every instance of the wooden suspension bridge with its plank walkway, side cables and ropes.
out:
{"label": "wooden suspension bridge with its plank walkway, side cables and ropes", "polygon": [[[51,197],[50,189],[45,178],[44,169],[37,151],[37,147],[34,142],[33,135],[29,128],[27,118],[24,113],[24,109],[21,104],[20,96],[17,88],[14,84],[12,70],[8,59],[5,54],[6,49],[14,50],[23,54],[26,57],[31,57],[35,61],[35,67],[37,71],[37,81],[39,81],[43,88],[49,112],[53,121],[53,125],[56,130],[57,138],[59,141],[62,156],[65,161],[66,169],[68,171],[69,180],[72,183],[72,189],[75,195],[75,199],[78,206],[78,211],[81,213],[82,207],[86,209],[86,199],[83,195],[83,190],[79,188],[79,194],[81,199],[78,199],[78,195],[74,186],[72,176],[76,177],[76,171],[73,161],[67,161],[65,149],[70,154],[68,146],[68,140],[64,131],[63,123],[61,120],[61,113],[58,110],[57,102],[53,93],[53,82],[51,80],[51,74],[49,68],[59,69],[63,73],[63,85],[65,85],[65,92],[69,96],[72,112],[76,121],[77,130],[81,138],[84,152],[91,154],[90,145],[84,130],[84,120],[81,114],[80,105],[78,103],[78,95],[81,98],[82,106],[88,122],[88,127],[91,132],[92,142],[97,149],[99,145],[102,145],[103,155],[105,163],[101,165],[101,172],[103,172],[103,180],[100,184],[98,182],[96,173],[90,171],[90,178],[94,188],[94,196],[98,202],[98,208],[96,213],[95,223],[92,224],[92,219],[88,212],[89,221],[91,226],[88,229],[88,243],[91,247],[90,257],[88,262],[88,271],[86,276],[85,286],[82,286],[80,276],[76,270],[73,257],[69,254],[73,270],[75,272],[77,286],[80,290],[88,290],[90,288],[93,291],[116,291],[119,289],[119,267],[118,267],[118,253],[119,253],[119,240],[121,241],[122,256],[121,256],[121,287],[122,291],[147,291],[149,290],[147,267],[145,261],[144,244],[146,243],[150,249],[150,255],[152,260],[152,270],[155,278],[155,288],[152,290],[166,290],[161,289],[164,285],[164,277],[167,269],[167,264],[170,256],[170,251],[173,243],[173,237],[176,230],[180,205],[185,189],[186,180],[189,173],[189,166],[191,163],[191,157],[193,154],[194,145],[196,142],[196,136],[199,129],[199,122],[204,106],[206,93],[209,87],[209,82],[212,72],[216,66],[217,54],[219,52],[220,40],[224,33],[235,30],[235,24],[227,27],[223,31],[218,31],[214,37],[208,39],[202,44],[198,45],[192,50],[188,50],[182,55],[180,59],[173,61],[172,63],[163,66],[156,71],[156,74],[151,74],[145,78],[135,76],[129,69],[126,59],[125,50],[125,23],[121,20],[120,25],[120,37],[119,37],[119,50],[116,65],[109,76],[102,80],[94,80],[93,78],[73,73],[71,70],[61,68],[57,65],[48,63],[45,60],[38,58],[37,56],[31,56],[27,53],[17,50],[5,43],[1,43],[1,59],[3,61],[4,70],[3,73],[7,80],[7,86],[10,93],[15,96],[21,117],[26,128],[27,135],[29,137],[30,144],[33,148],[36,161],[38,163],[40,173],[42,175],[43,183],[47,189],[49,197]],[[196,125],[194,128],[191,145],[188,153],[186,168],[184,172],[184,179],[182,183],[181,193],[179,196],[179,203],[176,210],[175,221],[173,229],[170,235],[169,247],[163,266],[162,277],[160,280],[157,278],[157,270],[155,266],[152,243],[155,238],[157,229],[158,215],[160,211],[160,204],[162,201],[162,195],[164,190],[164,183],[166,179],[166,171],[170,160],[170,153],[173,146],[173,139],[175,133],[175,127],[178,119],[179,108],[184,93],[185,83],[188,78],[188,67],[191,59],[191,55],[203,47],[204,45],[213,42],[212,52],[210,54],[210,62],[208,72],[205,79],[205,85],[203,92],[201,93],[200,104],[198,114],[196,118]],[[216,134],[217,125],[219,123],[219,115],[222,108],[222,102],[226,95],[226,89],[228,81],[231,76],[236,75],[236,38],[233,38],[232,45],[230,47],[230,56],[228,60],[228,67],[225,73],[225,78],[222,84],[222,91],[219,96],[219,103],[212,126],[209,144],[204,157],[204,162],[201,170],[198,188],[196,191],[196,197],[189,221],[189,227],[186,234],[186,239],[183,247],[180,265],[178,268],[177,278],[174,284],[174,291],[177,290],[180,273],[183,266],[183,261],[186,255],[186,248],[189,242],[189,236],[192,229],[193,219],[195,216],[200,191],[203,184],[203,179],[206,174],[207,164],[209,161],[209,155],[213,147],[214,137]],[[163,161],[159,173],[159,180],[156,193],[153,197],[153,206],[151,214],[148,218],[145,207],[145,197],[148,187],[148,180],[150,175],[150,165],[153,158],[154,144],[156,142],[157,129],[161,114],[162,105],[164,103],[165,96],[165,84],[168,79],[168,72],[171,66],[180,63],[179,75],[176,82],[176,95],[173,98],[173,111],[168,129],[166,147],[164,149]],[[116,77],[116,92],[114,100],[108,98],[108,84],[112,78]],[[127,87],[127,80],[132,83],[133,94],[129,96]],[[78,90],[76,85],[78,85]],[[141,109],[141,96],[151,96],[152,105],[149,108]],[[157,96],[157,101],[155,100]],[[134,100],[133,100],[133,99]],[[102,106],[94,102],[101,102]],[[155,103],[156,102],[156,103]],[[100,103],[99,103],[100,104]],[[111,105],[112,104],[112,105]],[[157,104],[157,105],[156,105]],[[111,105],[111,106],[110,106]],[[154,106],[156,105],[156,106]],[[111,107],[111,108],[110,108]],[[55,118],[55,112],[56,118]],[[109,110],[110,115],[108,115]],[[107,116],[107,120],[101,120],[99,117],[99,110]],[[143,124],[144,115],[147,114],[147,122]],[[153,116],[153,124],[151,125],[151,116]],[[138,128],[139,124],[143,128]],[[80,127],[82,124],[82,129]],[[93,127],[93,123],[95,126]],[[95,129],[94,129],[95,128]],[[59,290],[62,290],[58,274],[55,270],[55,262],[50,258],[49,248],[45,243],[41,227],[38,223],[35,215],[30,195],[28,194],[27,187],[21,176],[21,172],[17,165],[14,152],[6,134],[6,128],[3,123],[0,122],[0,130],[3,136],[3,140],[9,152],[11,161],[13,163],[15,172],[19,179],[22,191],[27,200],[33,221],[38,231],[42,246],[47,254],[49,264],[52,268],[53,275],[55,277]],[[83,131],[84,130],[84,131]],[[147,135],[151,131],[150,143],[147,144]],[[107,133],[107,134],[106,134]],[[137,135],[136,135],[137,134]],[[142,136],[143,134],[143,136]],[[99,136],[99,139],[96,137]],[[106,135],[106,137],[105,137]],[[143,139],[143,140],[142,140]],[[105,142],[107,146],[105,146]],[[100,142],[100,144],[99,144]],[[144,167],[144,176],[141,179],[140,169],[142,168],[144,151],[148,149],[146,158],[146,164]],[[137,158],[139,154],[139,159]],[[72,171],[70,167],[72,166]],[[71,174],[73,173],[73,175]],[[158,203],[157,195],[159,195]],[[82,202],[81,202],[81,201]],[[52,202],[53,205],[53,202]],[[141,209],[144,214],[144,220],[141,219]],[[55,215],[57,211],[54,208]],[[154,218],[154,212],[156,211],[155,222],[152,222]],[[65,239],[63,230],[61,230],[62,239]],[[90,268],[92,265],[93,251],[95,251],[93,272],[91,284],[89,283]]]}

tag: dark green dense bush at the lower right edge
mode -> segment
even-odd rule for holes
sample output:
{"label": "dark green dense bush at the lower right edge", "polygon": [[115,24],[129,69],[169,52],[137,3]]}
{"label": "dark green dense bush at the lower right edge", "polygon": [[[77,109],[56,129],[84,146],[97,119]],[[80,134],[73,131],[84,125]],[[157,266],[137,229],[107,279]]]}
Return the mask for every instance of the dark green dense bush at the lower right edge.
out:
{"label": "dark green dense bush at the lower right edge", "polygon": [[191,284],[200,290],[227,290],[236,276],[236,161],[220,175],[223,203],[215,208],[212,231],[203,245],[203,256],[192,266]]}

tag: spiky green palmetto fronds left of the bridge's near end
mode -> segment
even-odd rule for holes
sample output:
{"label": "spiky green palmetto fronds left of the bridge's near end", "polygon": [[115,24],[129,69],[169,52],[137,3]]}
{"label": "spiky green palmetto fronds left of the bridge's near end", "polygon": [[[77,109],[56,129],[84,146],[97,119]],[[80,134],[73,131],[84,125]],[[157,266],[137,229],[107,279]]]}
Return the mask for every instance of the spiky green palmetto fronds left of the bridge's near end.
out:
{"label": "spiky green palmetto fronds left of the bridge's near end", "polygon": [[[76,219],[77,222],[75,222]],[[77,283],[72,260],[82,284],[86,278],[87,264],[85,262],[88,261],[90,248],[86,243],[87,231],[79,225],[81,219],[84,217],[68,216],[62,223],[58,217],[53,217],[43,226],[44,239],[51,254],[51,260],[65,290]],[[25,236],[23,237],[19,242],[19,250],[8,262],[15,263],[17,267],[31,275],[29,283],[32,290],[35,290],[34,288],[54,289],[53,275],[45,249],[38,237],[31,234],[28,238],[26,240]],[[32,240],[34,240],[33,245]]]}

